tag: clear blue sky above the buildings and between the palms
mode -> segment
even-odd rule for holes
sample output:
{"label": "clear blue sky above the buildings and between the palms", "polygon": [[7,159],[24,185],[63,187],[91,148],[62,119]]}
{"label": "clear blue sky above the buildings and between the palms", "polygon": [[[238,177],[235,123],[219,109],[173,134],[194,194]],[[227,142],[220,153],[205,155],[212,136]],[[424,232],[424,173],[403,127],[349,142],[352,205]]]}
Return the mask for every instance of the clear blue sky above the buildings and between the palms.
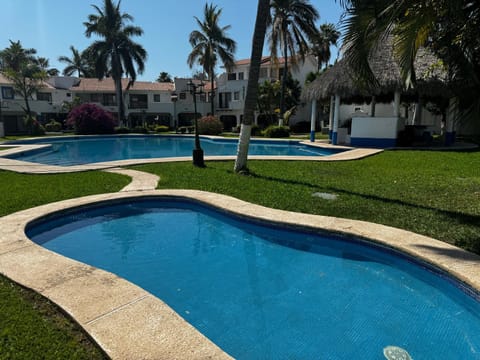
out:
{"label": "clear blue sky above the buildings and between the palms", "polygon": [[[37,55],[57,61],[61,55],[71,56],[70,45],[85,49],[93,39],[84,35],[83,22],[95,12],[92,4],[101,7],[103,0],[1,0],[0,49],[9,40],[20,40],[25,48],[37,49]],[[221,25],[231,25],[228,34],[237,42],[236,59],[250,57],[255,22],[256,0],[214,0],[223,9]],[[337,24],[342,9],[338,0],[311,0],[320,13],[319,24]],[[148,52],[146,69],[139,80],[154,81],[161,71],[172,76],[188,77],[193,70],[187,65],[191,51],[190,32],[196,29],[194,16],[202,18],[204,0],[122,0],[121,9],[134,17],[144,35],[135,38]],[[336,56],[336,50],[334,56]],[[265,51],[266,54],[266,51]],[[332,58],[334,60],[334,57]]]}

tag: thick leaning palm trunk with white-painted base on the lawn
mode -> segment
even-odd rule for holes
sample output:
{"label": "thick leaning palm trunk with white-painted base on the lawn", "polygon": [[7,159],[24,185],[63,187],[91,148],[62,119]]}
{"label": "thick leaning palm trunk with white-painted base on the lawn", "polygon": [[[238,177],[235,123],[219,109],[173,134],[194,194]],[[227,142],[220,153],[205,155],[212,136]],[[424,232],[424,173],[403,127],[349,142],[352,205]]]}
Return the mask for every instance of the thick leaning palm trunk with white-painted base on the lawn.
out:
{"label": "thick leaning palm trunk with white-painted base on the lawn", "polygon": [[252,123],[255,118],[258,78],[269,11],[270,0],[258,0],[257,18],[252,39],[252,55],[250,56],[250,69],[248,70],[247,95],[245,97],[243,122],[238,139],[237,159],[235,160],[234,166],[234,171],[237,173],[247,170],[248,146],[250,144]]}

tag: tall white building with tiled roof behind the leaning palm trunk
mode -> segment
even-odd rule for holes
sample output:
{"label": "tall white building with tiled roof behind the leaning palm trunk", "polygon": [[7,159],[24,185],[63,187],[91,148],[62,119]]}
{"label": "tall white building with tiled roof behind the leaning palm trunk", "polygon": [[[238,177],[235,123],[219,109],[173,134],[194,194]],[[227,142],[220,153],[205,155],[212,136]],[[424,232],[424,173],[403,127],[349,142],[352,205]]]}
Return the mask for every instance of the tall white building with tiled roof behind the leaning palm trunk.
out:
{"label": "tall white building with tiled roof behind the leaning palm trunk", "polygon": [[[265,80],[280,80],[283,74],[285,61],[283,58],[273,62],[269,56],[262,58],[260,66],[259,83]],[[243,108],[245,106],[245,95],[248,82],[248,71],[250,68],[250,59],[239,60],[235,63],[233,69],[228,73],[223,73],[217,79],[216,91],[216,115],[224,124],[224,129],[230,130],[232,127],[240,125],[243,118]],[[303,88],[305,79],[310,72],[317,70],[315,57],[307,56],[304,62],[299,62],[296,67],[289,69],[292,77],[300,82]],[[290,120],[295,123],[301,120],[309,120],[310,108],[304,104],[297,107],[295,116]],[[255,123],[259,122],[259,115],[255,114]]]}

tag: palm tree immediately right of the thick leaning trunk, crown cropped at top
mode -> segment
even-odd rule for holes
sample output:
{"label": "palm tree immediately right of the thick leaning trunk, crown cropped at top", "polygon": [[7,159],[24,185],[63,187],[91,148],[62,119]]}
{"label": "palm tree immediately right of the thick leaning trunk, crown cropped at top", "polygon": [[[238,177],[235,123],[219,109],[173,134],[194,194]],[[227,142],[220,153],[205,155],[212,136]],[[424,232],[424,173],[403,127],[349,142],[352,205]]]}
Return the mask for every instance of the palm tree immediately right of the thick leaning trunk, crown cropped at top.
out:
{"label": "palm tree immediately right of the thick leaning trunk, crown cropped at top", "polygon": [[285,81],[288,73],[288,58],[295,65],[297,58],[305,60],[318,34],[315,21],[319,15],[309,0],[271,0],[269,45],[272,59],[277,61],[278,50],[282,51],[284,67],[280,94],[280,117],[285,112]]}

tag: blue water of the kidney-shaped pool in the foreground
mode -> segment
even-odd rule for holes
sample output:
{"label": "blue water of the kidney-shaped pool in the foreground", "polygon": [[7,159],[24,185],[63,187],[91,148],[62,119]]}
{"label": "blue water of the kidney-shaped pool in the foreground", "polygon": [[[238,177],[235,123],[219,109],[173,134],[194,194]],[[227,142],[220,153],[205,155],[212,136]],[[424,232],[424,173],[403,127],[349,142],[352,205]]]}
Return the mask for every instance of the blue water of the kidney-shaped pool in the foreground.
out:
{"label": "blue water of the kidney-shaped pool in the foreground", "polygon": [[355,239],[187,200],[76,210],[30,226],[44,247],[164,300],[238,359],[479,359],[478,294]]}

